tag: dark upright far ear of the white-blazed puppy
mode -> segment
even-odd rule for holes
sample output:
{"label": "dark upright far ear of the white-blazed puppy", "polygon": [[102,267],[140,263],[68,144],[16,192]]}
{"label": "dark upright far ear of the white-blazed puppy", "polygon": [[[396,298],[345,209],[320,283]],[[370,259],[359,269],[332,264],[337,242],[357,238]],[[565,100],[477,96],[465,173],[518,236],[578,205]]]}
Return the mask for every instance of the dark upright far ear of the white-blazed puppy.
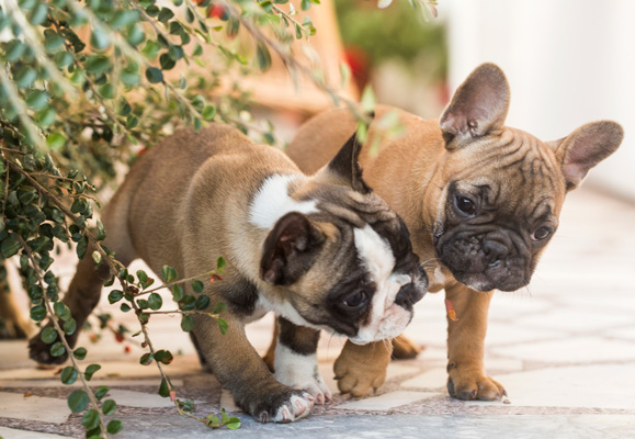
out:
{"label": "dark upright far ear of the white-blazed puppy", "polygon": [[358,133],[353,134],[342,146],[332,160],[321,169],[325,177],[336,184],[348,185],[363,194],[372,192],[362,178],[362,167],[358,161],[362,145],[358,142]]}

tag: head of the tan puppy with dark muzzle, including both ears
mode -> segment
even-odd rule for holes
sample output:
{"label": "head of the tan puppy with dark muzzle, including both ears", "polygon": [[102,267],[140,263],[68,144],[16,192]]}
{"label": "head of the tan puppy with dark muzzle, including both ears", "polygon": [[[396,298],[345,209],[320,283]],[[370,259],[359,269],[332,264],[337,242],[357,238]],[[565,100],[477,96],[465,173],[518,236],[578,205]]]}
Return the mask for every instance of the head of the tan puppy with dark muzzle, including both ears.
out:
{"label": "head of the tan puppy with dark muzzle, including both ears", "polygon": [[[526,285],[558,225],[567,191],[622,142],[619,124],[590,123],[544,143],[504,126],[509,86],[478,67],[440,119],[446,154],[429,184],[429,224],[445,267],[480,291]],[[431,212],[431,214],[430,214]]]}

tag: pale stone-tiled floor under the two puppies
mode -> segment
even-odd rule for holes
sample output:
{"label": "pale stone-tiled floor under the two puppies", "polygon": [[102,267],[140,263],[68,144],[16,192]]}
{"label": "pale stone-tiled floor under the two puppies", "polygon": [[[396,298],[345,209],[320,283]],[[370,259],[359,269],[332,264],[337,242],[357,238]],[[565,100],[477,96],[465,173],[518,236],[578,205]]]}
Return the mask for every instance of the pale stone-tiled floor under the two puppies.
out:
{"label": "pale stone-tiled floor under the two puppies", "polygon": [[[626,438],[635,437],[635,206],[590,189],[569,195],[560,229],[532,284],[498,293],[490,309],[486,369],[509,393],[511,404],[461,402],[445,391],[445,311],[441,294],[417,305],[407,335],[426,346],[416,360],[393,362],[377,395],[350,401],[336,395],[326,407],[293,425],[260,425],[239,415],[238,431],[219,437],[399,437]],[[64,268],[70,275],[72,270]],[[68,277],[67,277],[68,278]],[[67,279],[68,280],[68,279]],[[107,302],[102,309],[109,309]],[[113,312],[113,309],[110,309]],[[120,316],[117,315],[117,318]],[[134,327],[125,315],[122,322]],[[248,327],[254,346],[270,341],[271,316]],[[212,375],[200,371],[177,318],[154,318],[155,344],[179,351],[167,369],[179,395],[196,401],[199,413],[230,408]],[[107,334],[84,361],[100,362],[95,385],[110,385],[125,421],[118,437],[203,437],[205,427],[179,417],[156,395],[154,367],[138,364],[141,348],[116,344]],[[332,391],[332,362],[342,340],[325,337],[319,359]],[[0,437],[82,437],[81,417],[70,415],[72,389],[37,370],[25,342],[0,342]],[[31,396],[25,396],[32,394]],[[49,434],[49,436],[44,435]]]}

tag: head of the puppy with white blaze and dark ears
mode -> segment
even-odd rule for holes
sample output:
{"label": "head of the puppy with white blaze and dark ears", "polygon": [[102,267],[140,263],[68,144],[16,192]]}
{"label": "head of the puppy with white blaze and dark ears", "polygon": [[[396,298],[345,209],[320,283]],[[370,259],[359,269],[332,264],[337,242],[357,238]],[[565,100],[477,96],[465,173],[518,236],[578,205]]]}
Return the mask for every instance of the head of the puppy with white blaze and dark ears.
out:
{"label": "head of the puppy with white blaze and dark ears", "polygon": [[263,245],[260,274],[276,312],[356,344],[396,337],[428,278],[397,214],[362,179],[355,136],[314,177],[284,178],[287,200]]}

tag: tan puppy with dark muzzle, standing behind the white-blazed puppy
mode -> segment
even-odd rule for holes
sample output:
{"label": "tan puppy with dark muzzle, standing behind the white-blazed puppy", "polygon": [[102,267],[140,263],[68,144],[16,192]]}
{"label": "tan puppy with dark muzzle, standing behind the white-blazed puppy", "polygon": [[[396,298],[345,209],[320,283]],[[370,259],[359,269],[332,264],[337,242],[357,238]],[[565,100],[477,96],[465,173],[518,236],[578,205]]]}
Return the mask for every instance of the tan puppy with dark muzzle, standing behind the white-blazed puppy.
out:
{"label": "tan puppy with dark muzzle, standing behind the white-blazed puppy", "polygon": [[[386,139],[376,156],[360,156],[366,181],[408,226],[430,291],[445,290],[458,320],[447,320],[447,390],[461,399],[495,399],[502,385],[484,370],[484,339],[492,290],[530,282],[556,232],[565,194],[620,146],[622,127],[602,121],[544,143],[504,126],[509,86],[492,64],[476,68],[440,121],[379,105],[377,121],[399,114],[406,134]],[[355,121],[345,109],[308,121],[287,154],[311,173],[328,162]],[[342,392],[364,395],[383,383],[384,349],[347,344],[336,362]],[[372,358],[370,358],[372,357]],[[364,367],[363,364],[367,364]]]}

